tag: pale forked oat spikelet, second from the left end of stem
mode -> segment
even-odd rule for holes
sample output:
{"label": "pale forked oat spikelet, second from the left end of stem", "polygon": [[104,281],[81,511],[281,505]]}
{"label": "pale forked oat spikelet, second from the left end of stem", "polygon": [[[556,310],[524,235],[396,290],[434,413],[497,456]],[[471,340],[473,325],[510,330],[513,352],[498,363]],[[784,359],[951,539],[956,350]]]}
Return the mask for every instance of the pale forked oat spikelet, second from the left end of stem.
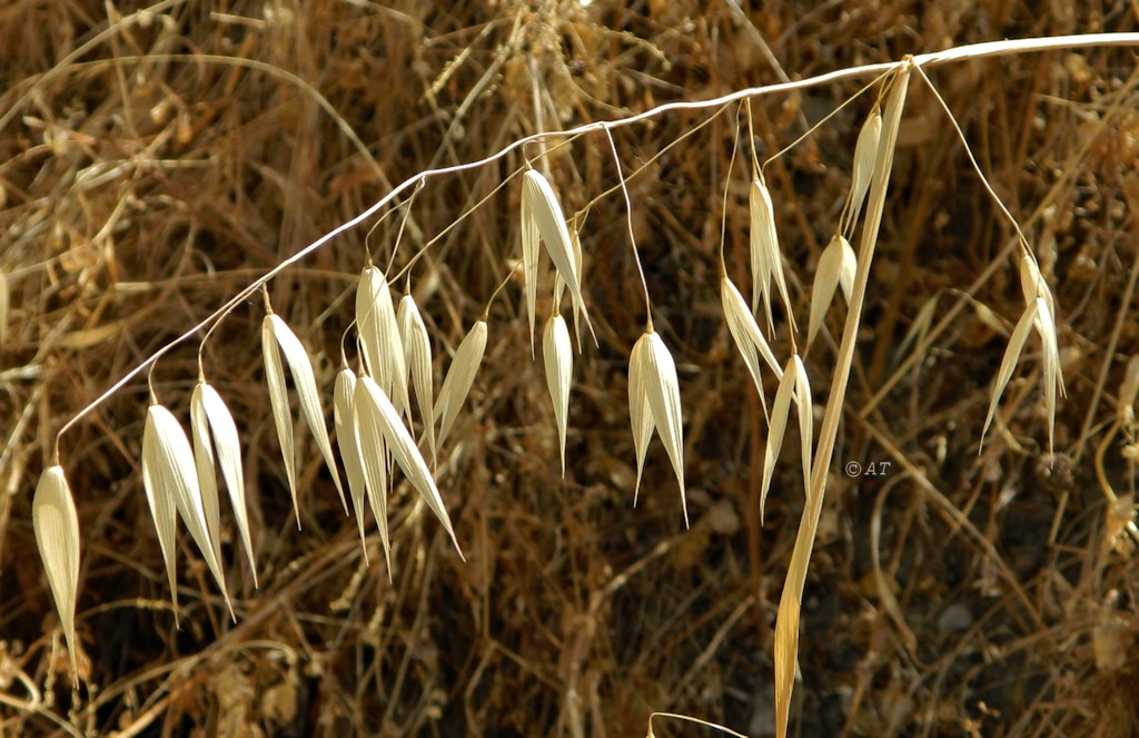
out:
{"label": "pale forked oat spikelet, second from the left end of stem", "polygon": [[[226,590],[226,577],[222,575],[221,563],[214,555],[213,544],[210,540],[210,526],[206,522],[202,487],[198,485],[197,468],[194,463],[190,441],[178,419],[158,404],[153,404],[147,409],[146,427],[142,431],[142,484],[147,487],[147,497],[151,501],[164,500],[166,504],[174,503],[174,509],[178,510],[182,522],[190,532],[190,537],[194,538],[194,543],[197,544],[202,557],[206,560],[206,566],[210,567],[210,571],[216,579],[218,586],[221,587],[232,617],[233,606],[229,601],[229,592]],[[151,511],[154,509],[155,504],[151,502]],[[166,526],[169,538],[163,542],[162,533],[158,537],[159,543],[170,546],[166,566],[173,586],[174,521],[170,512],[163,514],[165,518],[163,525]],[[158,525],[157,513],[155,514],[155,524]],[[163,554],[165,557],[166,552],[164,551]]]}

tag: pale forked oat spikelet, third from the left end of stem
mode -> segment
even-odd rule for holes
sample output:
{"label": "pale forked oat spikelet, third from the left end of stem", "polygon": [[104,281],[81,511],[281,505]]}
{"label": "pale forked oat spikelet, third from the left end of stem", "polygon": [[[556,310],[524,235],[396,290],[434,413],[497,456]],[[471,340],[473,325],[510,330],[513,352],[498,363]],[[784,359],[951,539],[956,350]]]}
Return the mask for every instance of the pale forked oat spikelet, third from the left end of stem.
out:
{"label": "pale forked oat spikelet, third from the left end of stem", "polygon": [[[213,543],[214,557],[221,561],[221,526],[219,522],[218,477],[214,472],[214,446],[218,447],[218,465],[221,467],[226,487],[229,489],[229,501],[233,506],[237,529],[245,548],[245,557],[253,573],[253,586],[257,586],[257,568],[253,557],[253,542],[249,537],[249,516],[245,502],[245,472],[241,468],[240,437],[233,415],[229,412],[226,400],[221,398],[210,383],[199,380],[190,396],[190,429],[194,437],[194,462],[198,472],[198,485],[202,487],[202,503],[206,511],[210,540]],[[211,444],[211,432],[213,443]]]}

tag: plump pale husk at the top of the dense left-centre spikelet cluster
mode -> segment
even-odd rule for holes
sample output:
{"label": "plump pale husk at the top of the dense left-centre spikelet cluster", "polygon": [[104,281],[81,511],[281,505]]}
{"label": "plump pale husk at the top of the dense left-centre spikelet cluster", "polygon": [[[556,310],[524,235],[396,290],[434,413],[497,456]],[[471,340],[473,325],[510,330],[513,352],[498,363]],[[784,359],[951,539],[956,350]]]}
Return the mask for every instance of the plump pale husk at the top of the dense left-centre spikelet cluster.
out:
{"label": "plump pale husk at the top of the dense left-centre spikelet cluster", "polygon": [[384,388],[400,413],[407,413],[408,366],[400,340],[400,323],[387,278],[376,267],[369,266],[360,274],[355,318],[368,374]]}

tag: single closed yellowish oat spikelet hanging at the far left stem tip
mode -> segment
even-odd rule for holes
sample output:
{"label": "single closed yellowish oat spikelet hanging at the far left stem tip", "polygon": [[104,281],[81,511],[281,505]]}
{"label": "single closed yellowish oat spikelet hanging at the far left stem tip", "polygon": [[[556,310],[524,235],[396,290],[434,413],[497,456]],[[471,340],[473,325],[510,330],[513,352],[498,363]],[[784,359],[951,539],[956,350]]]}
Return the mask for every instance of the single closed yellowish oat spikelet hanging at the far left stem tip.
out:
{"label": "single closed yellowish oat spikelet hanging at the far left stem tip", "polygon": [[35,545],[48,573],[48,585],[56,600],[59,625],[67,641],[72,681],[79,686],[75,654],[75,599],[79,591],[79,514],[64,470],[58,464],[40,475],[32,497],[32,527]]}

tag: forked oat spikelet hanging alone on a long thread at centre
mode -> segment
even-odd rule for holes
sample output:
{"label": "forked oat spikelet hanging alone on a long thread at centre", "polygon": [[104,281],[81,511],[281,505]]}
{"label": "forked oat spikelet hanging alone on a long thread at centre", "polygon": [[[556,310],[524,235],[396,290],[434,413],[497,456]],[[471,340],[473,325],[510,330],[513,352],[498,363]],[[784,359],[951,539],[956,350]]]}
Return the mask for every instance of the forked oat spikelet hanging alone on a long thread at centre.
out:
{"label": "forked oat spikelet hanging alone on a long thread at centre", "polygon": [[[677,482],[680,485],[680,505],[685,512],[685,526],[688,526],[688,498],[685,494],[685,431],[682,425],[682,411],[680,406],[680,382],[677,379],[677,365],[672,360],[672,354],[664,344],[661,335],[655,331],[647,331],[638,339],[633,347],[636,360],[630,360],[630,374],[636,373],[636,382],[642,399],[641,403],[648,405],[648,414],[652,425],[661,435],[661,443],[669,452],[669,460],[672,469],[677,473]],[[636,364],[636,366],[633,366]],[[633,382],[630,379],[630,400],[632,400]],[[632,414],[632,402],[630,413]],[[645,432],[645,407],[638,411],[640,417],[633,420],[633,438],[638,441],[644,439]],[[640,428],[638,429],[638,422]],[[638,431],[641,433],[638,438]],[[647,445],[647,440],[645,441]],[[639,447],[638,467],[644,462],[644,447]]]}

